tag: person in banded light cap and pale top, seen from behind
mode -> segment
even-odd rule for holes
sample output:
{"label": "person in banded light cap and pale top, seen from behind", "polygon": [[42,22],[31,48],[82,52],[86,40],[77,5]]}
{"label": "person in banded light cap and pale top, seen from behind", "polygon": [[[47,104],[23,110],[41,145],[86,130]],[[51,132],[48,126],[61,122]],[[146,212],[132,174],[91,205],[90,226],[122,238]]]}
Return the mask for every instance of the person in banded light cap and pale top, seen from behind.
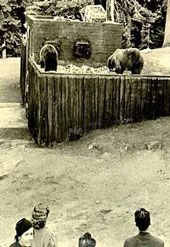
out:
{"label": "person in banded light cap and pale top, seen from behind", "polygon": [[33,208],[33,241],[31,247],[57,247],[54,234],[46,226],[49,215],[49,207],[39,203]]}

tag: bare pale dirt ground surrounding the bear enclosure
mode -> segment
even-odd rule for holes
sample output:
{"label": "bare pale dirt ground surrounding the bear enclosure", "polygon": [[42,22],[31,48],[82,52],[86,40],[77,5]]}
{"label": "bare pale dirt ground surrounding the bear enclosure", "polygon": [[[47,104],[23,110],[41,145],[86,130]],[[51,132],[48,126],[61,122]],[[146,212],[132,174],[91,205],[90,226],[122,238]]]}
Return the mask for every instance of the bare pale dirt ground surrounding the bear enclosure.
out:
{"label": "bare pale dirt ground surrounding the bear enclosure", "polygon": [[[143,56],[143,73],[170,73],[170,48]],[[3,72],[9,71],[1,63]],[[11,68],[15,73],[8,73],[8,80],[1,75],[0,83],[11,83],[12,102],[20,102],[20,95],[14,96],[19,60]],[[133,213],[139,207],[150,210],[150,231],[169,247],[169,164],[170,117],[96,130],[51,149],[38,148],[29,135],[8,136],[0,140],[0,246],[12,243],[15,223],[30,218],[41,201],[50,206],[48,225],[59,247],[78,246],[86,231],[98,247],[122,247],[137,233]]]}

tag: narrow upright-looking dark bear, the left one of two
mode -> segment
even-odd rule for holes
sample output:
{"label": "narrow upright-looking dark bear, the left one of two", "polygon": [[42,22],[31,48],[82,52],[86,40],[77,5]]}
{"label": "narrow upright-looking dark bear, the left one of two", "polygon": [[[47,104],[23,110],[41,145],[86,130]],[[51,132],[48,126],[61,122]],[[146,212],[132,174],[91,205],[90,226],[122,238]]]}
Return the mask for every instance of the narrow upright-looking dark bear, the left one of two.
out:
{"label": "narrow upright-looking dark bear, the left one of two", "polygon": [[46,44],[41,48],[40,65],[45,71],[57,71],[58,52],[53,45]]}

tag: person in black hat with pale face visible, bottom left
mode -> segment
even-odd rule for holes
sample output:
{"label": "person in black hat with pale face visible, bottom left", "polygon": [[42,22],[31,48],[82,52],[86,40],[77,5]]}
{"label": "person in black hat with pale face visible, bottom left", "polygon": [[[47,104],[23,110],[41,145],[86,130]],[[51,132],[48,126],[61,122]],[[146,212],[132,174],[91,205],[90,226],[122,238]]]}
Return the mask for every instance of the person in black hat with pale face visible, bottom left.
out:
{"label": "person in black hat with pale face visible, bottom left", "polygon": [[22,218],[16,223],[15,226],[15,242],[10,247],[30,247],[33,239],[33,227],[32,223]]}

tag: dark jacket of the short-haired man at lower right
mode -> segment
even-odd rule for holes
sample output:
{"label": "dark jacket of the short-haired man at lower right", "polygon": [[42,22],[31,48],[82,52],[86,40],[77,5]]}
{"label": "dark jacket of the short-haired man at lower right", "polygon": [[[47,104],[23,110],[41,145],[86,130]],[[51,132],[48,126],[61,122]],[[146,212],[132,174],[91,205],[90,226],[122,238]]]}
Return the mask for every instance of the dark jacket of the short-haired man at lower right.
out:
{"label": "dark jacket of the short-haired man at lower right", "polygon": [[138,235],[126,239],[124,247],[164,247],[164,242],[149,232],[139,232]]}

